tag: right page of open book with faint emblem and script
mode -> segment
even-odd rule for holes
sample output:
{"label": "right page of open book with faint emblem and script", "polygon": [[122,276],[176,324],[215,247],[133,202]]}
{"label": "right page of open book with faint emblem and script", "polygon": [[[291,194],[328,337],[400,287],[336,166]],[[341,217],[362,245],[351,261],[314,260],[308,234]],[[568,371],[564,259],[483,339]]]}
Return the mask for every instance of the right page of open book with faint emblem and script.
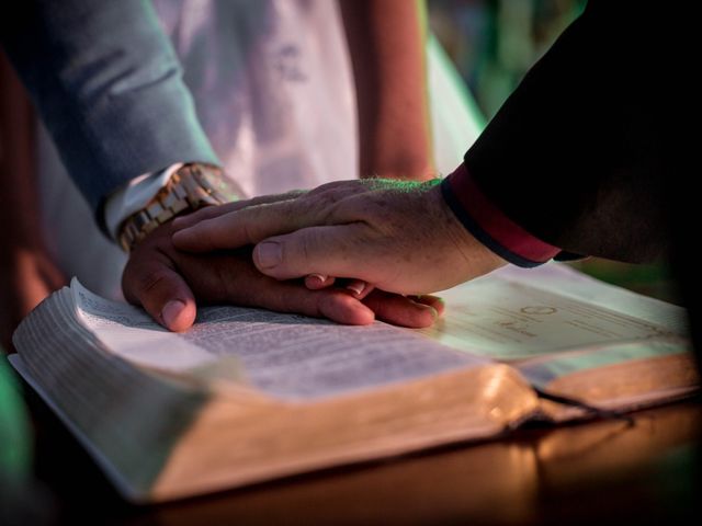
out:
{"label": "right page of open book with faint emblem and script", "polygon": [[[434,327],[421,332],[453,348],[498,359],[645,343],[652,339],[681,340],[684,335],[682,309],[667,306],[667,316],[658,316],[661,322],[656,322],[652,321],[658,319],[655,316],[644,319],[579,299],[578,290],[588,288],[581,284],[579,288],[563,286],[563,276],[553,281],[535,278],[532,286],[530,272],[533,271],[512,271],[505,276],[497,273],[440,294],[446,301],[446,312]],[[603,284],[598,286],[620,308],[635,307],[636,299],[646,304],[647,298]],[[569,295],[562,294],[568,288]],[[626,301],[618,302],[618,296]],[[679,348],[683,351],[684,345]]]}

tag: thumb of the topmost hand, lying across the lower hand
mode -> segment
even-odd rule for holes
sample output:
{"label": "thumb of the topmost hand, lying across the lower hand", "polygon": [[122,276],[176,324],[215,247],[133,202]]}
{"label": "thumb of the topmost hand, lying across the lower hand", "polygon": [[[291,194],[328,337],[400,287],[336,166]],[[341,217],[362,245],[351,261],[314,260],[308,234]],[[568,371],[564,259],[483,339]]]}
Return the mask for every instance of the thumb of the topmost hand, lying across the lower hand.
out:
{"label": "thumb of the topmost hand, lying across the lower hand", "polygon": [[[310,227],[268,238],[253,249],[253,263],[276,279],[321,274],[373,282],[363,264],[359,225]],[[371,271],[372,272],[372,271]]]}

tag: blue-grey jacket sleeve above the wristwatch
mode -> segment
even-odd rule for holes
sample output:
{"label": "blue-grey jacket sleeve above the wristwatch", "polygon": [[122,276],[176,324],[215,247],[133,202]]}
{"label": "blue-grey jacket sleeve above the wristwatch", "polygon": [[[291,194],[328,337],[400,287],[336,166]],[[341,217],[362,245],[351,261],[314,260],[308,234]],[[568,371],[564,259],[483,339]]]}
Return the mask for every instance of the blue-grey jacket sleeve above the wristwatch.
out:
{"label": "blue-grey jacket sleeve above the wristwatch", "polygon": [[148,0],[22,0],[0,38],[92,206],[183,159],[218,163]]}

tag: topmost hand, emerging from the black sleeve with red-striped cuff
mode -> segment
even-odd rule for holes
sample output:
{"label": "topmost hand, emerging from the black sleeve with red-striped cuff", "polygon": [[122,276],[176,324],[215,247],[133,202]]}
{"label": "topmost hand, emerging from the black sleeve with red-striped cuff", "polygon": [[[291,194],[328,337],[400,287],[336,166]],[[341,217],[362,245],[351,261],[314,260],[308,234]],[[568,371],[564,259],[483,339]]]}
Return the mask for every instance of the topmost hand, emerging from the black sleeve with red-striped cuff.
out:
{"label": "topmost hand, emerging from the black sleeve with red-striped cuff", "polygon": [[458,222],[438,183],[342,181],[240,202],[178,221],[173,242],[193,253],[258,243],[256,266],[276,279],[341,276],[408,295],[505,265]]}

